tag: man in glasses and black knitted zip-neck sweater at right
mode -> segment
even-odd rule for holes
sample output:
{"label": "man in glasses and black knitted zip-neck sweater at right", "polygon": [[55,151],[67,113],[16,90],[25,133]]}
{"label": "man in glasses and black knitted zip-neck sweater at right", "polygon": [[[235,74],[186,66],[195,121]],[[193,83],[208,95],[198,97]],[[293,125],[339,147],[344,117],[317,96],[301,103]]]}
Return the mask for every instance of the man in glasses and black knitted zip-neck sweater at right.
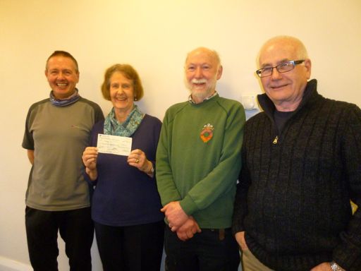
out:
{"label": "man in glasses and black knitted zip-neck sweater at right", "polygon": [[294,37],[259,52],[263,109],[245,124],[233,234],[243,271],[361,270],[361,110],[309,80]]}

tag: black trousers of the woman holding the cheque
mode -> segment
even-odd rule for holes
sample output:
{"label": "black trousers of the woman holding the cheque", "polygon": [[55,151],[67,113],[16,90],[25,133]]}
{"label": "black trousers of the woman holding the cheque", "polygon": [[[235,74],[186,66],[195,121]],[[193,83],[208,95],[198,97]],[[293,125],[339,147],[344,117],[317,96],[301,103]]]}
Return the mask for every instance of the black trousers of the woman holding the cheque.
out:
{"label": "black trousers of the woman holding the cheque", "polygon": [[164,221],[127,227],[94,222],[104,271],[159,271]]}

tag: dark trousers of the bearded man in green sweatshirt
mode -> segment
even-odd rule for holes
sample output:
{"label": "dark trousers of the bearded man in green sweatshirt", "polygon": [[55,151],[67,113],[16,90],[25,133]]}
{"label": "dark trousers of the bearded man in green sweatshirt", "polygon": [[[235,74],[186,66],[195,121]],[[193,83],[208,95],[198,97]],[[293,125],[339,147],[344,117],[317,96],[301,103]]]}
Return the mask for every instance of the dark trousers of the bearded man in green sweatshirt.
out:
{"label": "dark trousers of the bearded man in green sweatshirt", "polygon": [[166,271],[237,271],[238,244],[231,229],[202,229],[187,241],[166,227]]}

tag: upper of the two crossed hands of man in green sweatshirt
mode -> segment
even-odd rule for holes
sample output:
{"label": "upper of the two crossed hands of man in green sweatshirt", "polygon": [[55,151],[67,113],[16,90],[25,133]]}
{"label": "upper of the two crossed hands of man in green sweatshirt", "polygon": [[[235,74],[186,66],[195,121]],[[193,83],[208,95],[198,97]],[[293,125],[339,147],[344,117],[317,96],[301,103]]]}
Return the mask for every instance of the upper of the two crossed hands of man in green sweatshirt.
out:
{"label": "upper of the two crossed hands of man in green sweatshirt", "polygon": [[183,211],[179,201],[172,201],[163,208],[161,212],[164,212],[166,219],[169,222],[169,227],[172,231],[177,231],[189,218],[188,215]]}

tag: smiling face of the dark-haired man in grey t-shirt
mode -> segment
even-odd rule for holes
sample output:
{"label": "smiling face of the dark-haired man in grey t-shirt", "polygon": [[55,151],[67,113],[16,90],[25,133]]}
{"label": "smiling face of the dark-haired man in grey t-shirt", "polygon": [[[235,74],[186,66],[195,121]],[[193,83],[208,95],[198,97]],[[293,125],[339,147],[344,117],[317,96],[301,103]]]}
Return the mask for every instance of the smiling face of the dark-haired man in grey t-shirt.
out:
{"label": "smiling face of the dark-haired man in grey t-shirt", "polygon": [[66,56],[52,56],[47,62],[45,76],[54,97],[59,100],[71,96],[79,82],[79,72],[75,63],[73,59]]}

